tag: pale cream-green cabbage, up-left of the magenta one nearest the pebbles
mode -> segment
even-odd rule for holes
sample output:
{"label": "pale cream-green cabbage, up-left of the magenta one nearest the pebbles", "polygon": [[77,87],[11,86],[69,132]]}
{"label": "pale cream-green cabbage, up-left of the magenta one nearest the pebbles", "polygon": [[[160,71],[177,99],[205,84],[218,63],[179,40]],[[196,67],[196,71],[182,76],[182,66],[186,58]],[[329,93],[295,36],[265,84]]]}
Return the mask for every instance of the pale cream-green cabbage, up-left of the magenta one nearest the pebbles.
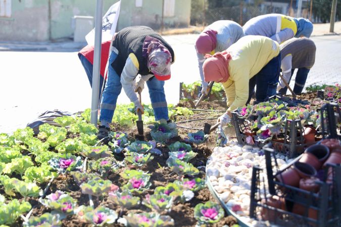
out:
{"label": "pale cream-green cabbage, up-left of the magenta one nearest the pebbles", "polygon": [[169,212],[173,205],[173,197],[166,194],[145,195],[142,204],[151,208],[152,210],[162,213]]}

